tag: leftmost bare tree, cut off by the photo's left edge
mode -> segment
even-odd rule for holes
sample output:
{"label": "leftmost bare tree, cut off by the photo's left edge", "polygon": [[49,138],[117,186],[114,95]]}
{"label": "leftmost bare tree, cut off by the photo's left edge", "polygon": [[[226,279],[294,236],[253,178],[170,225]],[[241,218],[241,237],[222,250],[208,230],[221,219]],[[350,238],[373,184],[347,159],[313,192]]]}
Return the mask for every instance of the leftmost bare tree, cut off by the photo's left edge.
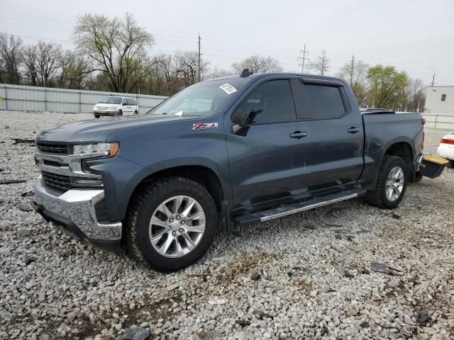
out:
{"label": "leftmost bare tree, cut off by the photo's left edge", "polygon": [[22,39],[7,33],[0,33],[0,64],[4,68],[4,81],[9,84],[21,84],[19,68],[23,60]]}

